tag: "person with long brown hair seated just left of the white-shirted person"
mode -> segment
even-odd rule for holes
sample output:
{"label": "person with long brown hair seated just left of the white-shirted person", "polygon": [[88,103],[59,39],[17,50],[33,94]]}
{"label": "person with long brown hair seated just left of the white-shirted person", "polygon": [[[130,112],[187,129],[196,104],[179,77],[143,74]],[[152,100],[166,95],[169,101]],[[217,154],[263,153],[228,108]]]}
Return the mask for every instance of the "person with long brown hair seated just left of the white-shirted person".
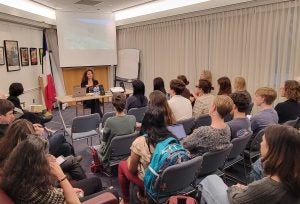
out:
{"label": "person with long brown hair seated just left of the white-shirted person", "polygon": [[168,101],[161,91],[153,91],[150,93],[149,107],[160,109],[165,115],[167,125],[171,125],[176,122]]}

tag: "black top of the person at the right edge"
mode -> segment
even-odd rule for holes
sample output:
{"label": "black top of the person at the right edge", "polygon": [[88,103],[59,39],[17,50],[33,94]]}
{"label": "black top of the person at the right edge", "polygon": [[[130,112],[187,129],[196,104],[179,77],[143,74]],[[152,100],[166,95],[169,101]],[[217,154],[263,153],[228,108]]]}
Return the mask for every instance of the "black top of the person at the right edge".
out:
{"label": "black top of the person at the right edge", "polygon": [[278,103],[275,106],[279,117],[279,123],[284,123],[289,120],[295,120],[300,117],[300,103],[295,100],[288,99],[285,102]]}

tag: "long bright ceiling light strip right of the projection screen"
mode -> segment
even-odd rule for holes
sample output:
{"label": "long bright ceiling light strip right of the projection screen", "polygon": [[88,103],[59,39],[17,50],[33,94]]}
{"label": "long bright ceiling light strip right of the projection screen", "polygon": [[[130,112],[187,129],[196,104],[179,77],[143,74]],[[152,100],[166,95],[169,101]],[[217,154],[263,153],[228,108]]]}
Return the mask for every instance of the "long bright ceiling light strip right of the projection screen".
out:
{"label": "long bright ceiling light strip right of the projection screen", "polygon": [[160,11],[171,10],[193,4],[203,3],[210,0],[160,0],[151,3],[142,4],[132,8],[120,10],[115,12],[115,19],[123,20],[137,16],[157,13]]}

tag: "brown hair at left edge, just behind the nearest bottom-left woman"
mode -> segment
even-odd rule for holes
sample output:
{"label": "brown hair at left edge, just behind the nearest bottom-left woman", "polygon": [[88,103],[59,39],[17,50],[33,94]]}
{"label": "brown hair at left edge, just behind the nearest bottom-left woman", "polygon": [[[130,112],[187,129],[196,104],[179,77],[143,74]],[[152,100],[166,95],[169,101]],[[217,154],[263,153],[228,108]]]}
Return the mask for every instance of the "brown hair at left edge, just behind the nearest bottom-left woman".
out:
{"label": "brown hair at left edge, just behind the nearest bottom-left woman", "polygon": [[0,141],[0,167],[3,165],[4,160],[8,158],[11,151],[21,141],[27,138],[28,134],[34,134],[34,128],[31,122],[25,119],[19,119],[12,122]]}

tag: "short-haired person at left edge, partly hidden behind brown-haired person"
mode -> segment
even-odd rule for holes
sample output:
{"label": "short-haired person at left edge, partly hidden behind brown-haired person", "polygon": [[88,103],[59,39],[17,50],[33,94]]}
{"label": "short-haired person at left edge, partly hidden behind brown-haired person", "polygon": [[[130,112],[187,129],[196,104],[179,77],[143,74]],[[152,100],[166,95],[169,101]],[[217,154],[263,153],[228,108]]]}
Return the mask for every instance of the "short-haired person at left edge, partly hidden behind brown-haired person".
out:
{"label": "short-haired person at left edge, partly hidden behind brown-haired person", "polygon": [[[15,120],[13,115],[14,105],[9,100],[0,99],[0,136],[5,133],[8,125]],[[60,132],[51,133],[40,124],[34,124],[35,132],[49,140],[51,154],[58,157],[60,155],[75,155],[73,146],[67,142],[65,136]]]}

